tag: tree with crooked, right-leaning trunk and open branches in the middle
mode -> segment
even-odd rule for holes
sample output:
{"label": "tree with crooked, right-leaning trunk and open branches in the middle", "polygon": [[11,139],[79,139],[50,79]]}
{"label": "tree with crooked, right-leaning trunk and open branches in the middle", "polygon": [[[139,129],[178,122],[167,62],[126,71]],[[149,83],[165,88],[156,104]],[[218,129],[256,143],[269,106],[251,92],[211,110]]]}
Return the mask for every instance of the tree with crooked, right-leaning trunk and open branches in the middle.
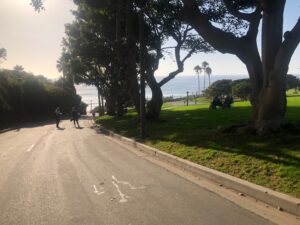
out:
{"label": "tree with crooked, right-leaning trunk and open branches in the middle", "polygon": [[[146,80],[152,91],[152,99],[147,105],[147,117],[158,119],[163,104],[162,86],[183,72],[185,62],[199,52],[211,52],[213,48],[207,44],[193,28],[181,21],[174,20],[180,8],[168,5],[165,1],[148,1],[144,5],[147,32]],[[166,41],[172,39],[173,45]],[[159,82],[154,73],[159,67],[159,62],[167,54],[175,58],[176,68],[170,71]]]}

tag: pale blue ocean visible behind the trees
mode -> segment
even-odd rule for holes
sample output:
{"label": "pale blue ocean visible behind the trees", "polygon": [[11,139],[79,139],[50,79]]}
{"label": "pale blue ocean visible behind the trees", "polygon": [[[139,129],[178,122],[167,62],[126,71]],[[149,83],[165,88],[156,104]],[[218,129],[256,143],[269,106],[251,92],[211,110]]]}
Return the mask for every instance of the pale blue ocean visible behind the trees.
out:
{"label": "pale blue ocean visible behind the trees", "polygon": [[[299,77],[299,75],[298,75]],[[157,76],[157,80],[161,80],[163,77]],[[231,79],[238,80],[248,78],[248,75],[212,75],[211,83],[222,80],[222,79]],[[208,78],[206,77],[205,87],[208,87]],[[77,94],[82,97],[82,101],[91,104],[93,106],[98,105],[97,90],[93,86],[86,85],[76,85]],[[203,75],[200,75],[200,92],[204,89],[204,78]],[[165,97],[183,97],[186,96],[186,92],[189,92],[190,95],[196,94],[198,92],[198,77],[196,75],[179,75],[174,79],[170,80],[162,87],[162,92]],[[151,91],[149,87],[146,88],[146,98],[151,98]]]}

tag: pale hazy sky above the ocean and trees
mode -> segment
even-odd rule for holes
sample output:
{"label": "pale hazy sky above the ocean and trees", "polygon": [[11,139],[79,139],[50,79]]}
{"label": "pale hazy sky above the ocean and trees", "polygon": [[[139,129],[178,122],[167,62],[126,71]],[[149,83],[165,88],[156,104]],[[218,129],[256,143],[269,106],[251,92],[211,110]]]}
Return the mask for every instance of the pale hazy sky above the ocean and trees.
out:
{"label": "pale hazy sky above the ocean and trees", "polygon": [[[0,0],[0,48],[7,50],[7,60],[0,68],[12,69],[22,65],[27,72],[57,79],[60,74],[56,61],[61,54],[64,24],[73,20],[72,0],[46,0],[45,11],[37,13],[30,0]],[[287,0],[284,30],[290,30],[300,16],[300,0]],[[244,75],[246,68],[236,56],[230,54],[197,54],[186,63],[182,75],[195,74],[193,68],[207,61],[212,75]],[[161,60],[156,75],[167,75],[175,68],[174,59]],[[290,74],[300,74],[300,46],[289,67]]]}

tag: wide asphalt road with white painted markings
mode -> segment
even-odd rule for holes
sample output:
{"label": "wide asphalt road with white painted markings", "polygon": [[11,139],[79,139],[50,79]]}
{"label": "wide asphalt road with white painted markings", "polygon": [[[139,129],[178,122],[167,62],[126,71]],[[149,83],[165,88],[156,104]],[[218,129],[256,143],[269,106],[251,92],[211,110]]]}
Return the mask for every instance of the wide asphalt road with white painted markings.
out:
{"label": "wide asphalt road with white painted markings", "polygon": [[0,134],[1,225],[269,225],[70,121]]}

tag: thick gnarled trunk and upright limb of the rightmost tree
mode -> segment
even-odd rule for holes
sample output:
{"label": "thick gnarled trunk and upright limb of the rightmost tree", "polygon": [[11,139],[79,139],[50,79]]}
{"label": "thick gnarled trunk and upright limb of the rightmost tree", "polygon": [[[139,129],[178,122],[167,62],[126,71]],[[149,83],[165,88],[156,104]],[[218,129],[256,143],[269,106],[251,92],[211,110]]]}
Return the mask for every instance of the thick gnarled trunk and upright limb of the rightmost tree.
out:
{"label": "thick gnarled trunk and upright limb of the rightmost tree", "polygon": [[287,65],[280,59],[285,1],[262,0],[263,85],[259,92],[255,127],[259,134],[276,132],[285,125]]}

